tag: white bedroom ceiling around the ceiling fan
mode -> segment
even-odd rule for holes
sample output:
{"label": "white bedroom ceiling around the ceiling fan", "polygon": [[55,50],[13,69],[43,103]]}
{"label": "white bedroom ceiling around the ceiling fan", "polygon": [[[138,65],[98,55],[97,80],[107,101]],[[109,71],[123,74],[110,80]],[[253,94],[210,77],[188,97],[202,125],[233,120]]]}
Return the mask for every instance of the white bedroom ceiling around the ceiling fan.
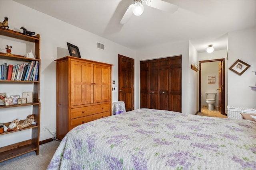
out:
{"label": "white bedroom ceiling around the ceiling fan", "polygon": [[164,0],[169,14],[146,6],[141,16],[120,20],[133,0],[14,0],[130,49],[190,40],[198,53],[212,44],[227,49],[227,33],[256,26],[256,0]]}

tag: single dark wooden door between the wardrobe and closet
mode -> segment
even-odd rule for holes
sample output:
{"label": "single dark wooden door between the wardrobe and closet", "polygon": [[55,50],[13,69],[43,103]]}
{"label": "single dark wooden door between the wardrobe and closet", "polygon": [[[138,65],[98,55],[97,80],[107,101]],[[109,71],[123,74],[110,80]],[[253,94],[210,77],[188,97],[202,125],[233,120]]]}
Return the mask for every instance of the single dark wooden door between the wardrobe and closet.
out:
{"label": "single dark wooden door between the wardrobe and closet", "polygon": [[126,111],[134,110],[134,59],[118,55],[118,100]]}

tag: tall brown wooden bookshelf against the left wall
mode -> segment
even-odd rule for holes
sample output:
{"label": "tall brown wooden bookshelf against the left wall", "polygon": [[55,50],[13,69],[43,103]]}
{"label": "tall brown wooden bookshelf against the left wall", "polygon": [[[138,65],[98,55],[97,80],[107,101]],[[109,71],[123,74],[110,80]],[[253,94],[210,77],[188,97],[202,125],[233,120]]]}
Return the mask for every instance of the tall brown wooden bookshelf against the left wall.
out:
{"label": "tall brown wooden bookshelf against the left wall", "polygon": [[[32,42],[34,43],[34,54],[36,58],[26,58],[24,56],[21,55],[16,55],[16,54],[7,54],[7,53],[0,53],[0,63],[1,65],[3,63],[7,63],[8,65],[19,65],[17,63],[20,62],[20,64],[26,64],[28,65],[29,63],[35,63],[34,66],[38,66],[38,70],[35,71],[38,73],[37,75],[37,80],[35,79],[33,81],[33,78],[31,78],[30,80],[0,80],[0,85],[1,85],[1,92],[6,92],[11,93],[10,88],[8,88],[8,86],[12,86],[12,87],[17,87],[19,88],[20,94],[22,92],[25,91],[25,89],[23,88],[31,88],[31,92],[33,92],[33,103],[28,103],[28,104],[14,104],[14,105],[10,105],[10,106],[5,106],[5,105],[0,105],[0,114],[3,113],[8,113],[9,111],[12,112],[14,111],[19,111],[20,109],[18,109],[18,107],[28,107],[28,108],[24,108],[26,109],[32,109],[32,113],[30,112],[29,114],[34,114],[35,117],[35,122],[36,125],[30,125],[28,127],[25,127],[23,129],[19,129],[16,131],[4,131],[4,133],[0,133],[0,137],[5,137],[6,134],[11,134],[11,135],[16,135],[18,134],[18,131],[24,131],[24,130],[28,130],[31,129],[31,139],[26,140],[26,141],[20,141],[18,143],[14,143],[8,146],[4,146],[0,148],[0,162],[3,162],[5,160],[9,160],[11,158],[20,156],[22,154],[26,154],[28,152],[32,152],[35,151],[36,154],[39,154],[39,134],[40,134],[40,99],[39,99],[39,92],[40,92],[40,35],[37,34],[35,36],[28,36],[28,35],[23,35],[22,33],[18,32],[18,31],[13,31],[13,30],[6,30],[0,27],[0,42],[3,41],[1,38],[4,39],[10,39],[10,41],[13,42],[20,42],[20,40],[23,40],[25,43],[28,42]],[[11,38],[9,38],[11,37]],[[32,65],[32,64],[31,64]],[[5,68],[5,67],[4,67]],[[35,70],[35,67],[33,67]],[[32,70],[31,70],[32,72]],[[8,74],[8,73],[7,73]],[[20,73],[22,74],[22,73]],[[23,75],[23,74],[22,74]],[[20,78],[22,78],[22,76],[20,76]],[[36,77],[35,77],[36,78]],[[22,84],[22,87],[20,86]],[[22,91],[24,90],[24,91]],[[12,95],[12,94],[11,94]],[[2,109],[2,110],[1,110]],[[23,109],[21,109],[23,111]],[[1,115],[2,117],[5,116]],[[17,117],[12,116],[12,114],[7,114],[6,116],[8,116],[8,118],[10,117],[10,120],[8,121],[12,121],[14,119],[16,119]],[[20,123],[22,123],[24,120],[21,120]],[[3,123],[4,125],[6,125],[7,127],[9,126],[10,122],[7,123]],[[29,131],[28,131],[29,132]]]}

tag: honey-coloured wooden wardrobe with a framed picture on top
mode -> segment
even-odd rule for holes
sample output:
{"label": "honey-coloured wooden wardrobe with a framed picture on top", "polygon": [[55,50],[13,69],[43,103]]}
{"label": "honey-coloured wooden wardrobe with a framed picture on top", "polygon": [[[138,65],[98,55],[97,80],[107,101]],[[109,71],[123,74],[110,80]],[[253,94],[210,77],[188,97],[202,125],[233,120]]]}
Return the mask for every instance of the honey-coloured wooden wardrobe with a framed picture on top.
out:
{"label": "honey-coloured wooden wardrobe with a framed picture on top", "polygon": [[77,57],[57,62],[57,138],[74,127],[112,115],[112,64]]}

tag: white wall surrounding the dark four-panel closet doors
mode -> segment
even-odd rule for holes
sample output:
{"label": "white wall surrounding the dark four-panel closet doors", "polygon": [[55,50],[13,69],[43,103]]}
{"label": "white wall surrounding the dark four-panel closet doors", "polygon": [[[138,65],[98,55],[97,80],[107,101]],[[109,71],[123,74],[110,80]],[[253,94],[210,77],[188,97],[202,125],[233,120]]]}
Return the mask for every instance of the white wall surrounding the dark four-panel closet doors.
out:
{"label": "white wall surrounding the dark four-panel closet doors", "polygon": [[[196,112],[190,108],[192,106],[189,106],[189,96],[192,92],[189,88],[189,71],[191,70],[189,66],[191,63],[189,63],[188,51],[189,41],[166,43],[138,50],[136,53],[138,60],[136,60],[137,65],[135,69],[137,79],[135,81],[140,81],[140,61],[182,55],[182,113],[195,114]],[[137,85],[138,93],[135,95],[139,99],[140,88],[139,84]],[[137,105],[140,106],[139,103]]]}

